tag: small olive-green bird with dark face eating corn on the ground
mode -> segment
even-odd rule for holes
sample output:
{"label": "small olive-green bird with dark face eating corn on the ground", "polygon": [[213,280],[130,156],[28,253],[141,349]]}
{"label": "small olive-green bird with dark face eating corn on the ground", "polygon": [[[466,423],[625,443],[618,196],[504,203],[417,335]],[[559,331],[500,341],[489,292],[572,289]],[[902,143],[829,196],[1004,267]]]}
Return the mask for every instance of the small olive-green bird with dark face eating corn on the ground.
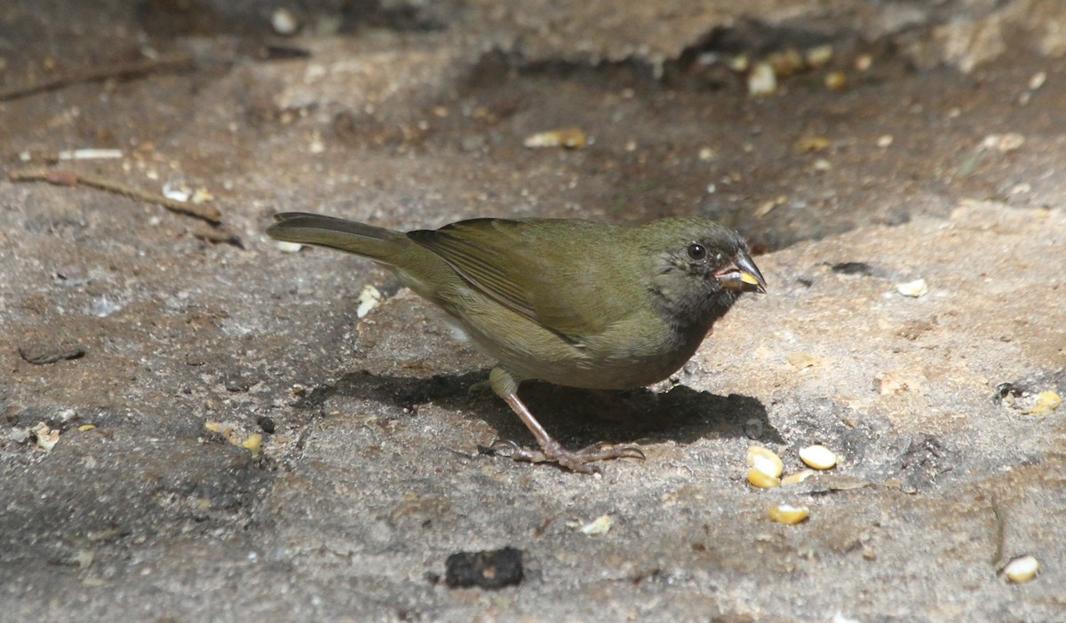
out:
{"label": "small olive-green bird with dark face eating corn on the ground", "polygon": [[744,239],[698,217],[636,227],[475,218],[407,233],[302,212],[275,218],[270,236],[373,260],[443,310],[458,335],[499,362],[489,386],[539,446],[494,447],[582,473],[595,472],[596,461],[644,454],[564,448],[518,398],[519,383],[621,390],[658,382],[692,357],[741,294],[766,286]]}

